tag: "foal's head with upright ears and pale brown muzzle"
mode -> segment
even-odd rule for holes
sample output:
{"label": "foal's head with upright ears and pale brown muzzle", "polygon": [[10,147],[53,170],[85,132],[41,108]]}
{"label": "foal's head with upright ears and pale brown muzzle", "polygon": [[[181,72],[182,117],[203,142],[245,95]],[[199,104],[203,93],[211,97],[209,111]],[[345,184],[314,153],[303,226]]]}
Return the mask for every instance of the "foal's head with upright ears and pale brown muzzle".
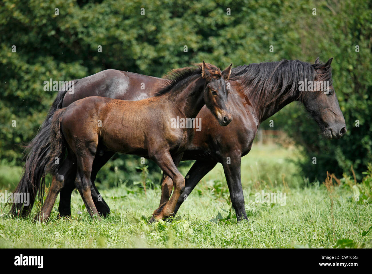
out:
{"label": "foal's head with upright ears and pale brown muzzle", "polygon": [[230,108],[227,107],[228,89],[225,82],[229,79],[231,66],[232,64],[221,72],[217,67],[204,61],[202,64],[202,77],[206,80],[203,90],[205,105],[221,126],[227,126],[232,120]]}

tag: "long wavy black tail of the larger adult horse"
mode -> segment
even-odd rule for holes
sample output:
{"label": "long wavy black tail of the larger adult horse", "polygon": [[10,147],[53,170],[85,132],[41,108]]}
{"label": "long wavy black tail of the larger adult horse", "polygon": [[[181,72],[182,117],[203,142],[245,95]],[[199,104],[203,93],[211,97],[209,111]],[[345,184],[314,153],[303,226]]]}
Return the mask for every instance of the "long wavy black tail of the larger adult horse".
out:
{"label": "long wavy black tail of the larger adult horse", "polygon": [[[77,81],[78,80],[75,80],[74,84],[76,84]],[[53,116],[55,112],[62,107],[63,98],[69,88],[70,86],[68,86],[68,88],[65,87],[64,90],[58,92],[57,98],[55,98],[35,138],[25,147],[26,163],[23,167],[22,178],[14,192],[30,193],[29,204],[24,205],[23,202],[14,201],[10,209],[10,214],[28,216],[32,210],[37,194],[39,201],[42,202],[45,188],[45,175],[47,174],[45,169],[51,159],[51,155],[55,152],[52,151],[52,144],[50,142],[50,138],[54,134],[54,130],[52,130]],[[62,158],[60,159],[62,161]]]}

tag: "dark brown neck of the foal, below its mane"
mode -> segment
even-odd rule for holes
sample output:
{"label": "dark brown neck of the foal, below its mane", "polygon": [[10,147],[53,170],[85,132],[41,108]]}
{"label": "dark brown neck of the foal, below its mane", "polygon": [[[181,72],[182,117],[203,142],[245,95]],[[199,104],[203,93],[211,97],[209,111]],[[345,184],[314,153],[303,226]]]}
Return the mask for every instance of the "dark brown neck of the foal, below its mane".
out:
{"label": "dark brown neck of the foal, below its mane", "polygon": [[202,109],[204,102],[203,88],[205,79],[198,77],[189,81],[189,84],[179,92],[172,101],[177,102],[173,105],[187,118],[195,118]]}

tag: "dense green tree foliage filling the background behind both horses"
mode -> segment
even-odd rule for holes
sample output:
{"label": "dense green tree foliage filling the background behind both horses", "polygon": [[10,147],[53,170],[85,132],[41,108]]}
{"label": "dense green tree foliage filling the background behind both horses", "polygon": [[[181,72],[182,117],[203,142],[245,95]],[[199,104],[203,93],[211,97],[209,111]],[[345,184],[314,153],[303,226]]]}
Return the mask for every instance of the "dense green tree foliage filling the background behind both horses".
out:
{"label": "dense green tree foliage filling the background behind both horses", "polygon": [[314,62],[319,56],[334,57],[347,135],[321,139],[315,122],[295,104],[274,116],[275,125],[304,147],[306,176],[340,174],[351,164],[360,176],[372,159],[371,10],[370,2],[356,0],[3,0],[0,159],[22,165],[21,145],[33,138],[57,94],[44,91],[50,78],[68,81],[104,69],[161,77],[202,60],[225,67],[284,58]]}

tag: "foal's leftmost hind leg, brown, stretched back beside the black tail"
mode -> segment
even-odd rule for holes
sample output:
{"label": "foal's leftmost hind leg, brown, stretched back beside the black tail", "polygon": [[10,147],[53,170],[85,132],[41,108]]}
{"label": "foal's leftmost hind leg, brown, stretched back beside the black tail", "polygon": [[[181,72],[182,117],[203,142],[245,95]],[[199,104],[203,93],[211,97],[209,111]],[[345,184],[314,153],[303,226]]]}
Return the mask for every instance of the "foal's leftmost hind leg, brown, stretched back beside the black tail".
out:
{"label": "foal's leftmost hind leg, brown, stretched back beside the black tail", "polygon": [[53,205],[55,203],[55,199],[57,199],[58,193],[63,187],[64,177],[68,173],[70,169],[71,161],[69,158],[66,158],[60,169],[58,169],[57,174],[53,176],[51,186],[49,188],[49,192],[45,202],[41,208],[41,211],[36,215],[35,220],[37,221],[47,221],[51,212]]}

